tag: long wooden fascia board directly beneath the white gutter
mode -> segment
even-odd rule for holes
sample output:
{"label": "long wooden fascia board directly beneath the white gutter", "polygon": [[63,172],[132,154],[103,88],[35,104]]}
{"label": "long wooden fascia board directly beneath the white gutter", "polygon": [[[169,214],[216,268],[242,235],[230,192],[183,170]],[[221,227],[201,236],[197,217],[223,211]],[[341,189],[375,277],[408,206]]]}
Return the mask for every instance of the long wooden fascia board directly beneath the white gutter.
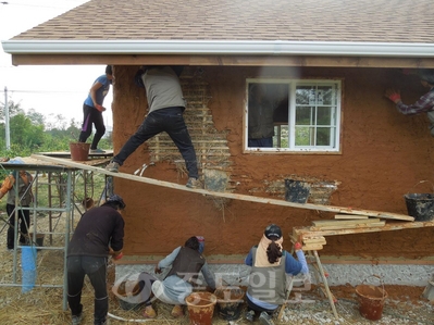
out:
{"label": "long wooden fascia board directly beneath the white gutter", "polygon": [[328,66],[328,67],[434,67],[433,58],[377,58],[346,55],[226,55],[226,54],[28,54],[12,55],[13,65],[101,64],[211,65],[211,66]]}

